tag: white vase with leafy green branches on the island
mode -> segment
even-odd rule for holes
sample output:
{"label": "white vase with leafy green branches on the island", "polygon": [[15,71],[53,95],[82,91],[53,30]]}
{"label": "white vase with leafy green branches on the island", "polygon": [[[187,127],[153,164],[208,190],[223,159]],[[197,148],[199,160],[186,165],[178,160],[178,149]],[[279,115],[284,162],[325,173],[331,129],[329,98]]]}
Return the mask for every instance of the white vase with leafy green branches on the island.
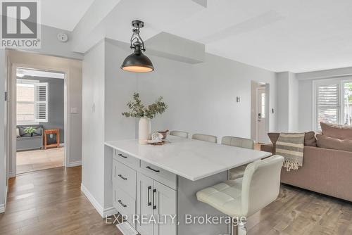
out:
{"label": "white vase with leafy green branches on the island", "polygon": [[139,118],[138,125],[138,140],[139,144],[147,144],[151,136],[151,119],[155,118],[157,114],[162,114],[168,108],[163,102],[163,97],[159,96],[155,103],[149,106],[144,106],[139,94],[133,94],[133,101],[127,103],[129,112],[122,113],[126,118]]}

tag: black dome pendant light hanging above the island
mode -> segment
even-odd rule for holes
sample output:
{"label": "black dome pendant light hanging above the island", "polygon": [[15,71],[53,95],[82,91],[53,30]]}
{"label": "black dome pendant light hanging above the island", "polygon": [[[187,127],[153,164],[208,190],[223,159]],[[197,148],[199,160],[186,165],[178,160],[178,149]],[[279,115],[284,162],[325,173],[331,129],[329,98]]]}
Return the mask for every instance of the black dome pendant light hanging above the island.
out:
{"label": "black dome pendant light hanging above the island", "polygon": [[132,26],[134,29],[132,30],[133,34],[130,48],[133,49],[133,53],[125,58],[121,68],[129,72],[151,72],[154,70],[153,63],[143,54],[146,49],[144,48],[142,38],[139,37],[139,29],[144,27],[144,22],[141,20],[133,20]]}

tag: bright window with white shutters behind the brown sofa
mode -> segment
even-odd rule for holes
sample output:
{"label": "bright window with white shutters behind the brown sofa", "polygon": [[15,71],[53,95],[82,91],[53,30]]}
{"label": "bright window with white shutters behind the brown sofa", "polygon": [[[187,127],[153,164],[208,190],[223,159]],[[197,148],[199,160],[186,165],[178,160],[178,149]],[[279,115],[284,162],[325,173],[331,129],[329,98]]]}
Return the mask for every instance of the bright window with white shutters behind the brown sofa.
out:
{"label": "bright window with white shutters behind the brown sofa", "polygon": [[320,130],[320,122],[339,125],[352,124],[352,81],[330,79],[313,82],[315,88],[313,125]]}

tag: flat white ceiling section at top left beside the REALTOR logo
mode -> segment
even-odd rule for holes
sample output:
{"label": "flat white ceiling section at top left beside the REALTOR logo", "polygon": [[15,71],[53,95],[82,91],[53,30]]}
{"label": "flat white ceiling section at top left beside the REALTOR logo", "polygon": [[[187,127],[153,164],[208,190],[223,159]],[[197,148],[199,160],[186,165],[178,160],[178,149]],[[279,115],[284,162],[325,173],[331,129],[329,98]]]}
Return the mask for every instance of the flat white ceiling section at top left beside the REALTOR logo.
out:
{"label": "flat white ceiling section at top left beside the REALTOR logo", "polygon": [[42,0],[42,25],[72,31],[93,1]]}

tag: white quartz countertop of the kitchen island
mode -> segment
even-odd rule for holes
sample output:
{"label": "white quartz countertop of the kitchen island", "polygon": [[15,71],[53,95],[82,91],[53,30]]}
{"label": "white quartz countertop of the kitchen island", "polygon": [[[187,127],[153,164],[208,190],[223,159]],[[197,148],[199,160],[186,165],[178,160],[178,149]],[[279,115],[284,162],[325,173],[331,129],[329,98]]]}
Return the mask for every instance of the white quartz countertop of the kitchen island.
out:
{"label": "white quartz countertop of the kitchen island", "polygon": [[137,139],[107,141],[105,144],[191,181],[271,155],[177,136],[168,136],[168,141],[162,146],[140,145]]}

